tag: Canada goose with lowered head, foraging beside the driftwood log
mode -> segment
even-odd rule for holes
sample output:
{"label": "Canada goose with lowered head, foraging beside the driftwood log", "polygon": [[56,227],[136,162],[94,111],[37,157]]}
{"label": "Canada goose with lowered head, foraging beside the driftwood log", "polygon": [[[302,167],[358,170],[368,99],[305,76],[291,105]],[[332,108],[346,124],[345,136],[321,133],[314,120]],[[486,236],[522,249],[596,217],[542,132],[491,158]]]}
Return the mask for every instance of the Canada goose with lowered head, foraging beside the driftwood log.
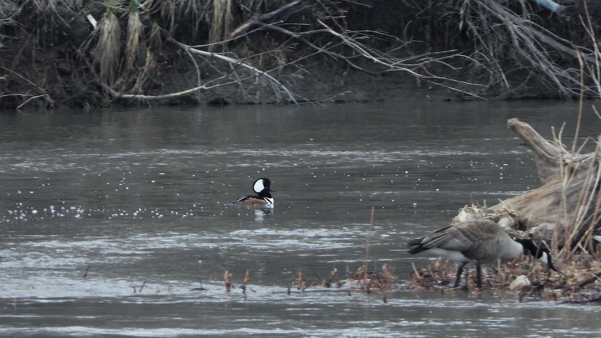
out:
{"label": "Canada goose with lowered head, foraging beside the driftwood log", "polygon": [[551,262],[551,255],[546,248],[537,248],[530,239],[511,238],[507,231],[493,221],[466,221],[453,226],[435,230],[422,238],[409,241],[410,254],[426,251],[433,256],[443,256],[459,263],[455,286],[463,266],[469,262],[476,265],[478,289],[482,288],[481,263],[494,263],[498,259],[513,260],[524,249],[537,258],[538,262],[546,264],[557,271]]}

